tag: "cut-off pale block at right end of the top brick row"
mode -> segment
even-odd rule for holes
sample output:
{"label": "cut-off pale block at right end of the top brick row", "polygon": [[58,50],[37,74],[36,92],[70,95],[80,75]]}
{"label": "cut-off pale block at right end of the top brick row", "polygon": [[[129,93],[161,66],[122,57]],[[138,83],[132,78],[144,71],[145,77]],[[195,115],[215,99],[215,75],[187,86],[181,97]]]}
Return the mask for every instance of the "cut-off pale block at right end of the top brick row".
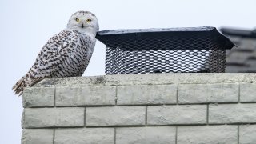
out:
{"label": "cut-off pale block at right end of the top brick row", "polygon": [[255,84],[240,84],[240,102],[256,102]]}

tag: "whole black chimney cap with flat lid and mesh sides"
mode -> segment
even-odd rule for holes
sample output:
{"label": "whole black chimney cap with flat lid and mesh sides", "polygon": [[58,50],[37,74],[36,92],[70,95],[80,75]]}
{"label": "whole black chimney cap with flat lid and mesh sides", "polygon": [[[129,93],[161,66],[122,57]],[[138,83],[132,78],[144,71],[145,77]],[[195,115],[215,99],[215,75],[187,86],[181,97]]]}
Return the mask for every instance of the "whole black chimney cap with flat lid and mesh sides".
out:
{"label": "whole black chimney cap with flat lid and mesh sides", "polygon": [[106,30],[106,74],[225,72],[234,44],[214,27]]}

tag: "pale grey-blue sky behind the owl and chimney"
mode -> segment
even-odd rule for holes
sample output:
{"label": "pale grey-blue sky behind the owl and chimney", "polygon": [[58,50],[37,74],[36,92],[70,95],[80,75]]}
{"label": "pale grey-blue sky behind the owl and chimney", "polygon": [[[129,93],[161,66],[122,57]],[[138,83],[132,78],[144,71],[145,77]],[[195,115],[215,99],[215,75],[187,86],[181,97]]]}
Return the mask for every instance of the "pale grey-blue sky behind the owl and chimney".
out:
{"label": "pale grey-blue sky behind the owl and chimney", "polygon": [[[90,10],[100,30],[182,26],[256,26],[255,0],[1,0],[0,143],[20,143],[22,98],[10,90],[46,41],[70,15]],[[105,46],[97,42],[87,75],[104,74]]]}

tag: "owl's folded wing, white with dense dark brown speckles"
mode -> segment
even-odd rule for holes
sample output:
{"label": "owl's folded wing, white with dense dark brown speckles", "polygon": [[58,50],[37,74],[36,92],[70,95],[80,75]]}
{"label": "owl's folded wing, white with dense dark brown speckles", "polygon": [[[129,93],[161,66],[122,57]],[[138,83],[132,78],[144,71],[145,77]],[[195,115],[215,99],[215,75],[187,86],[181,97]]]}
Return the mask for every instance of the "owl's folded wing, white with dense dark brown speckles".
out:
{"label": "owl's folded wing, white with dense dark brown speckles", "polygon": [[75,47],[80,42],[79,38],[78,31],[74,30],[63,30],[50,38],[31,67],[30,77],[50,78],[51,74],[59,70],[59,65],[69,63],[70,55],[74,54]]}

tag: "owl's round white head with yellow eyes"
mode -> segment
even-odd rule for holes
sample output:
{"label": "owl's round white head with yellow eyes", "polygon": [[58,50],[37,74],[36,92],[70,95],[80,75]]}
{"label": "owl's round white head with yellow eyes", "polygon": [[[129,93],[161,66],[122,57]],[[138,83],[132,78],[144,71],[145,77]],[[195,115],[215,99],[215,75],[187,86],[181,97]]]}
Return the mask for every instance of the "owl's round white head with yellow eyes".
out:
{"label": "owl's round white head with yellow eyes", "polygon": [[89,11],[78,11],[70,17],[67,28],[78,30],[81,33],[96,35],[98,31],[98,19]]}

